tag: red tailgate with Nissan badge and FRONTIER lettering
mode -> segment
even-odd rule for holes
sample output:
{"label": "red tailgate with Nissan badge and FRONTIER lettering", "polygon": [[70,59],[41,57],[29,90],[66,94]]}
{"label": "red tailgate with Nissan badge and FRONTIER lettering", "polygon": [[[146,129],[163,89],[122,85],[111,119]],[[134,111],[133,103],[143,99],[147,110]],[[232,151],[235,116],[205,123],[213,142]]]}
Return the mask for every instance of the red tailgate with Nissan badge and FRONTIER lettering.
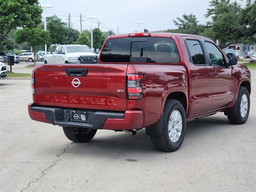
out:
{"label": "red tailgate with Nissan badge and FRONTIER lettering", "polygon": [[[67,73],[67,69],[71,74]],[[82,77],[73,69],[84,69],[87,75]],[[127,65],[36,65],[34,103],[41,106],[125,111],[126,70]]]}

